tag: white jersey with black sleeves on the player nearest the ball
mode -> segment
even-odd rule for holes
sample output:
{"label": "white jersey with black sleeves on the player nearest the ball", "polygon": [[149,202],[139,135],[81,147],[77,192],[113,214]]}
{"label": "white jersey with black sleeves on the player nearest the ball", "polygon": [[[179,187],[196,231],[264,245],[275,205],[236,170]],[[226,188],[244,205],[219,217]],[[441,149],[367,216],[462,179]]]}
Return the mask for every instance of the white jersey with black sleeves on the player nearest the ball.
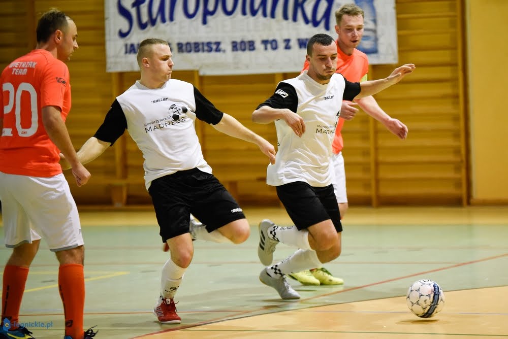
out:
{"label": "white jersey with black sleeves on the player nearest the ball", "polygon": [[353,100],[360,93],[360,84],[334,74],[328,84],[320,84],[307,75],[284,80],[263,104],[275,109],[289,109],[305,122],[305,133],[298,137],[283,119],[275,121],[277,154],[269,164],[266,182],[280,186],[303,181],[313,187],[332,183],[330,158],[335,127],[342,99]]}

